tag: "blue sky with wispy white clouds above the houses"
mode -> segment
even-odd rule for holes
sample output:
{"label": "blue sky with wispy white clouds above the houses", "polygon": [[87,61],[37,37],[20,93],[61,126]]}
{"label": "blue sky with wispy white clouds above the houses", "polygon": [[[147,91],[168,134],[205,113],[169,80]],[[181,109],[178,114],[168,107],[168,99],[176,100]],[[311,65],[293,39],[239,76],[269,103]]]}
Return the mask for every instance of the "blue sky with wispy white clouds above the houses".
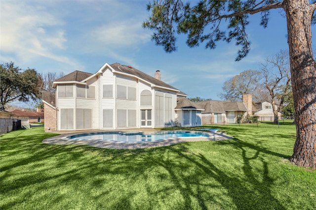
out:
{"label": "blue sky with wispy white clouds above the houses", "polygon": [[[280,50],[288,50],[284,12],[272,10],[268,28],[260,16],[250,16],[247,27],[249,55],[236,62],[238,46],[219,42],[214,50],[185,44],[178,36],[178,51],[168,54],[151,40],[153,31],[142,28],[150,12],[148,0],[0,1],[0,62],[13,61],[39,73],[75,70],[95,73],[104,63],[131,65],[187,93],[189,97],[220,100],[225,81]],[[312,33],[316,33],[315,26]],[[313,49],[316,49],[313,37]]]}

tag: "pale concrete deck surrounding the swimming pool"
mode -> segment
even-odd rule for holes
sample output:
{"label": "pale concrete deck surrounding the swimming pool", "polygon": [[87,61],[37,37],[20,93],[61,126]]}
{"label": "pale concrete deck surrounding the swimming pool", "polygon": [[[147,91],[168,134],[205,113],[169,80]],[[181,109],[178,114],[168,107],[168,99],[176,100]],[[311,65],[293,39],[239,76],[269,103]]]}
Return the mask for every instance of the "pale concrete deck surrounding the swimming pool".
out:
{"label": "pale concrete deck surrounding the swimming pool", "polygon": [[[143,132],[157,132],[156,129],[133,129]],[[100,132],[101,130],[89,130],[86,132]],[[105,130],[102,130],[105,131]],[[120,130],[120,131],[131,131],[129,130]],[[106,149],[143,149],[143,148],[156,148],[156,147],[165,147],[174,144],[184,143],[184,142],[197,142],[197,141],[222,141],[232,139],[232,136],[229,136],[224,133],[210,133],[205,132],[210,135],[210,137],[197,137],[197,138],[173,138],[166,139],[157,142],[109,142],[109,141],[93,141],[93,140],[63,140],[63,137],[67,137],[74,134],[85,133],[84,131],[80,132],[54,132],[61,135],[44,139],[42,143],[53,144],[53,145],[89,145],[92,147],[106,148]]]}

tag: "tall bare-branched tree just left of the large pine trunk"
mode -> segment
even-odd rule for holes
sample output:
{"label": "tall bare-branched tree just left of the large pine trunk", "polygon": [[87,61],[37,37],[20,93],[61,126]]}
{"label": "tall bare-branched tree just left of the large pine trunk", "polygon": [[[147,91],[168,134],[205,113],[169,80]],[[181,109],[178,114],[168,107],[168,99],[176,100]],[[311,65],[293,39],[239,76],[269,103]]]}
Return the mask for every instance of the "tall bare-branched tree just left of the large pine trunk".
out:
{"label": "tall bare-branched tree just left of the large pine trunk", "polygon": [[[288,55],[285,51],[280,51],[272,58],[266,59],[261,63],[261,73],[264,79],[264,85],[269,91],[274,123],[278,123],[278,113],[283,108],[284,98],[289,94],[291,89],[291,75],[288,63]],[[278,101],[278,106],[276,102]]]}

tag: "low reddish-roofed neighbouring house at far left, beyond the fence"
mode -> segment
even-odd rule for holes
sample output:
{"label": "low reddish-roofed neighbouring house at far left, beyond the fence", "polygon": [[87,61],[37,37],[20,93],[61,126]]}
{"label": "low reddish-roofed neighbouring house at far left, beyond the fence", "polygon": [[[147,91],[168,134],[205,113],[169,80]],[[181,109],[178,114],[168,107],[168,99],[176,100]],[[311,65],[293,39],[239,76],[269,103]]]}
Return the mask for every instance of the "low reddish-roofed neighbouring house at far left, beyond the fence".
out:
{"label": "low reddish-roofed neighbouring house at far left, beyond the fence", "polygon": [[21,120],[22,125],[32,122],[44,122],[44,112],[27,112],[15,109],[11,113],[13,114],[11,119]]}

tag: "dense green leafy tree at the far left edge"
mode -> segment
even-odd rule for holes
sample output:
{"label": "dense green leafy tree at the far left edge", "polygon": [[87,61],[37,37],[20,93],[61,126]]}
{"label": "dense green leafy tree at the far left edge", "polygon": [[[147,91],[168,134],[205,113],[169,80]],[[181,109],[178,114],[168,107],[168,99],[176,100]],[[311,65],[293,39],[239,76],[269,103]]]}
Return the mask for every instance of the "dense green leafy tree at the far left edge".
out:
{"label": "dense green leafy tree at the far left edge", "polygon": [[42,80],[35,69],[22,71],[13,62],[0,64],[0,106],[14,100],[27,102],[41,97]]}

